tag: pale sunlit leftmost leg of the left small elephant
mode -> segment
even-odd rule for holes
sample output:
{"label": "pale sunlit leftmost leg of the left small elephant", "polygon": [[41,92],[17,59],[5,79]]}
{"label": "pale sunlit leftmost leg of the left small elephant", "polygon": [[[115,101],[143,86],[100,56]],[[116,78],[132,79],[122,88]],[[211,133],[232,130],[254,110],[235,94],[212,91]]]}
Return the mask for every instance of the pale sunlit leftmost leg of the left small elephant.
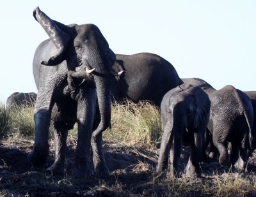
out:
{"label": "pale sunlit leftmost leg of the left small elephant", "polygon": [[165,124],[155,175],[158,175],[168,169],[168,154],[172,147],[172,142],[172,125],[170,123]]}

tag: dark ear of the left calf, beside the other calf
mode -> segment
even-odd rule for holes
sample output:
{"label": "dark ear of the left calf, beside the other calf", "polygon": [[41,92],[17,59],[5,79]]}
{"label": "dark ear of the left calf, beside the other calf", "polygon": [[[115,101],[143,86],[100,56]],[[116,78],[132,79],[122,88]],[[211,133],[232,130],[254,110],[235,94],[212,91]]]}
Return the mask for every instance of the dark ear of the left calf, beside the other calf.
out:
{"label": "dark ear of the left calf, beside the other calf", "polygon": [[193,127],[198,128],[201,122],[204,122],[205,119],[209,119],[211,101],[208,95],[200,87],[194,87],[194,93],[196,112],[193,121]]}

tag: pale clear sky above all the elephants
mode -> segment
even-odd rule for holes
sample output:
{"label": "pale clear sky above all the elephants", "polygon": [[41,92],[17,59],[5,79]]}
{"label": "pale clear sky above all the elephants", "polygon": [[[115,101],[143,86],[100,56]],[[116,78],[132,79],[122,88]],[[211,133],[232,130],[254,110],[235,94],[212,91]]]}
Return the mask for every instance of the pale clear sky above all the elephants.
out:
{"label": "pale clear sky above all the elephants", "polygon": [[116,54],[152,52],[180,78],[256,91],[256,1],[8,0],[0,3],[1,101],[37,92],[33,55],[48,37],[33,18],[36,6],[63,24],[97,25]]}

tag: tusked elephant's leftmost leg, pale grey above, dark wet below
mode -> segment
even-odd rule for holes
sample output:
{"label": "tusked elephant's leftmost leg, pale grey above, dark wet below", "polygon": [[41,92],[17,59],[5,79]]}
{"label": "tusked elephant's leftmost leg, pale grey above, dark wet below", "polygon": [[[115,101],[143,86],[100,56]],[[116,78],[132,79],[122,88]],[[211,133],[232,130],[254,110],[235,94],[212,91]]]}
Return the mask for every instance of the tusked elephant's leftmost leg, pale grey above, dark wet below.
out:
{"label": "tusked elephant's leftmost leg, pale grey above, dark wet below", "polygon": [[[50,95],[50,96],[49,96]],[[49,153],[49,126],[51,122],[52,94],[38,93],[35,104],[35,144],[28,154],[32,168],[44,169]]]}

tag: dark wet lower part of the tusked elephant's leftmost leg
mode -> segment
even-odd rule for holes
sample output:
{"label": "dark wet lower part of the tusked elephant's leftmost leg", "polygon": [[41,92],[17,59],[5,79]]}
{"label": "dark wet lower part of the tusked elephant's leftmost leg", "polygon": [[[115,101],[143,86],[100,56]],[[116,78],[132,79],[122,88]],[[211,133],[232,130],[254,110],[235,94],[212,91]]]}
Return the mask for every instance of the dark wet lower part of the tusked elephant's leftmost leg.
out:
{"label": "dark wet lower part of the tusked elephant's leftmost leg", "polygon": [[44,169],[49,153],[48,133],[51,122],[49,109],[38,110],[35,115],[35,144],[33,150],[28,154],[28,160],[32,168]]}

